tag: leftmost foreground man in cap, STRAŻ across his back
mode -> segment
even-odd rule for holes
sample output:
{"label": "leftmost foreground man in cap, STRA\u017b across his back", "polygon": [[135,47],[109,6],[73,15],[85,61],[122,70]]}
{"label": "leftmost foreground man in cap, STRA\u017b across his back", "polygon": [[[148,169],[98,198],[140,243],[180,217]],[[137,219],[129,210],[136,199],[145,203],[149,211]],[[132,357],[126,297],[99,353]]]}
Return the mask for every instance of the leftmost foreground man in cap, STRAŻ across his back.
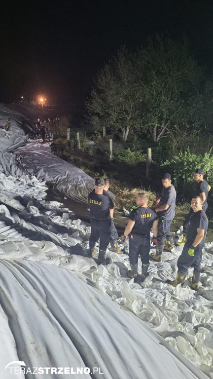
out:
{"label": "leftmost foreground man in cap, STRA\u017b across his back", "polygon": [[88,196],[90,210],[91,235],[89,239],[90,257],[94,253],[95,244],[100,238],[98,264],[106,263],[106,248],[110,239],[110,220],[113,219],[114,203],[109,196],[103,194],[104,179],[95,181],[95,192]]}

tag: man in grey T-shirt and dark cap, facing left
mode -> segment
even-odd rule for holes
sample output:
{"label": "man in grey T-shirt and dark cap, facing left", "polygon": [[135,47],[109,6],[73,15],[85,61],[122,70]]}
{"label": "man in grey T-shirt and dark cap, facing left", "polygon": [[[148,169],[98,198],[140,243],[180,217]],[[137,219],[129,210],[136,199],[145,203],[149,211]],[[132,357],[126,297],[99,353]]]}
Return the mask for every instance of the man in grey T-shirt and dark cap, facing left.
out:
{"label": "man in grey T-shirt and dark cap, facing left", "polygon": [[151,259],[156,262],[161,262],[161,257],[164,249],[171,251],[174,247],[170,227],[175,217],[176,190],[172,185],[170,174],[164,174],[162,178],[162,184],[164,189],[161,192],[161,197],[154,202],[155,212],[159,217],[157,232],[158,243],[156,245],[155,254],[151,254]]}

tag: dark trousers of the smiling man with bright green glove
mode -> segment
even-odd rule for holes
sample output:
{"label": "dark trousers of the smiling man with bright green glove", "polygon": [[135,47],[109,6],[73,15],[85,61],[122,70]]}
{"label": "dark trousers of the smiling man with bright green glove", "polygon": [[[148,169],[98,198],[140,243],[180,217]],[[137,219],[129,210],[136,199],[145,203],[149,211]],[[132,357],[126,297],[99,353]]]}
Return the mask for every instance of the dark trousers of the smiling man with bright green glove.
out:
{"label": "dark trousers of the smiling man with bright green glove", "polygon": [[178,258],[178,271],[185,274],[189,267],[193,267],[195,271],[201,272],[202,261],[202,249],[204,247],[205,240],[201,241],[194,250],[194,257],[188,254],[188,249],[191,246],[191,242],[186,242],[183,246],[182,253]]}

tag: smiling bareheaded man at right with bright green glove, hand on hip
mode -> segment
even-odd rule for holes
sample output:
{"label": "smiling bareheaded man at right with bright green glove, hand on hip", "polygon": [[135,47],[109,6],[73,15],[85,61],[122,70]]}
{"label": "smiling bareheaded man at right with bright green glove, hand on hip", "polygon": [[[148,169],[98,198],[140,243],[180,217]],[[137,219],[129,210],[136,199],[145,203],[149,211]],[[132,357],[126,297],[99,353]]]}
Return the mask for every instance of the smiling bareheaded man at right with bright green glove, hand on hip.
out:
{"label": "smiling bareheaded man at right with bright green glove, hand on hip", "polygon": [[188,268],[193,267],[194,273],[190,284],[193,290],[197,290],[198,288],[201,272],[202,249],[204,247],[208,229],[208,218],[202,209],[202,204],[200,196],[193,197],[191,201],[193,214],[188,223],[185,245],[178,258],[177,277],[175,280],[167,280],[167,283],[174,287],[178,284],[184,283]]}

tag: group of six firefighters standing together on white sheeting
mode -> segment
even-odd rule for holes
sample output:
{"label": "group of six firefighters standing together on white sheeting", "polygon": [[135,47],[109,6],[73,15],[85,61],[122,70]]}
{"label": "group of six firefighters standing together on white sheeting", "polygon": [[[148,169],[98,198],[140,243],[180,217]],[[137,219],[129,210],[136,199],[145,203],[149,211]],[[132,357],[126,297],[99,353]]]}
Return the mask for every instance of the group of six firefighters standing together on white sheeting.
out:
{"label": "group of six firefighters standing together on white sheeting", "polygon": [[[191,209],[183,223],[183,238],[177,245],[184,243],[181,255],[178,258],[178,273],[175,280],[167,283],[176,287],[183,284],[189,267],[193,267],[192,279],[189,279],[193,290],[198,289],[201,272],[202,249],[208,229],[206,210],[207,198],[211,186],[204,180],[201,168],[193,172],[193,179],[197,182],[196,193],[191,200]],[[129,260],[131,270],[128,276],[141,283],[148,276],[149,260],[161,262],[163,251],[171,252],[174,248],[173,236],[170,228],[175,217],[176,190],[172,185],[171,175],[165,173],[162,177],[163,190],[160,198],[148,207],[149,196],[145,191],[139,192],[136,198],[137,209],[129,216],[129,222],[121,236],[122,243],[129,237]],[[91,218],[91,236],[89,240],[90,257],[95,252],[95,244],[100,238],[98,264],[108,264],[106,248],[111,238],[112,250],[122,253],[117,243],[117,231],[113,222],[114,203],[107,193],[109,180],[97,179],[94,190],[89,193],[88,204]],[[155,253],[150,253],[150,231],[152,229],[152,244],[156,246]],[[142,274],[138,274],[139,255],[142,260]]]}

